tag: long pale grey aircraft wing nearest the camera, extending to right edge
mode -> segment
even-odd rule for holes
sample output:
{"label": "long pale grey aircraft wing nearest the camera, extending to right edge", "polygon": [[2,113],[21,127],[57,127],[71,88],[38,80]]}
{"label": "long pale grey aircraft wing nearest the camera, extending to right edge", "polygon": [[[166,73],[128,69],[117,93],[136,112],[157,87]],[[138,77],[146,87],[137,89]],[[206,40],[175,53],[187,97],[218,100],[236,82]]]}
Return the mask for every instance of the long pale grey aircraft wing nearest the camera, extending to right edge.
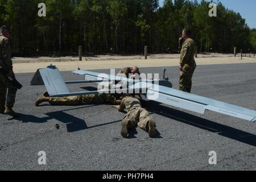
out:
{"label": "long pale grey aircraft wing nearest the camera, extending to right edge", "polygon": [[181,92],[180,90],[167,88],[166,86],[151,86],[147,90],[146,97],[148,100],[154,100],[200,114],[204,114],[206,110],[211,110],[217,113],[230,115],[232,117],[245,119],[247,121],[256,121],[255,110],[227,104],[225,102],[212,100],[195,94]]}

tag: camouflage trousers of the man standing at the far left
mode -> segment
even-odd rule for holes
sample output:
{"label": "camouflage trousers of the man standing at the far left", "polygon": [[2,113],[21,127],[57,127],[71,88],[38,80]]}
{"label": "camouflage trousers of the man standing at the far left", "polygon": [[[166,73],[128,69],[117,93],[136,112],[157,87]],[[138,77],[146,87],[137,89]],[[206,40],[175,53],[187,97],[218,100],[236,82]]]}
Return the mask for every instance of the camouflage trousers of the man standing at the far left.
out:
{"label": "camouflage trousers of the man standing at the far left", "polygon": [[[7,92],[8,89],[8,92]],[[13,107],[15,103],[15,97],[17,88],[7,81],[7,78],[0,73],[0,104],[8,107]],[[7,97],[6,97],[7,94]]]}

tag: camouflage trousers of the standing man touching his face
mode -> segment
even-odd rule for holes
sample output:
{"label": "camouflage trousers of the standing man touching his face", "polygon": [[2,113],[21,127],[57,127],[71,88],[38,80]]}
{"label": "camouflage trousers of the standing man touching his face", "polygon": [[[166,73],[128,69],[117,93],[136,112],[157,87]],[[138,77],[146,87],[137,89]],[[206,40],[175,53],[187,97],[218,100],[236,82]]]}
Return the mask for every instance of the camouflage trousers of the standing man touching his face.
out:
{"label": "camouflage trousers of the standing man touching his face", "polygon": [[193,66],[184,66],[183,71],[180,72],[180,83],[179,90],[183,92],[191,93],[192,88],[192,76],[195,72],[196,65]]}

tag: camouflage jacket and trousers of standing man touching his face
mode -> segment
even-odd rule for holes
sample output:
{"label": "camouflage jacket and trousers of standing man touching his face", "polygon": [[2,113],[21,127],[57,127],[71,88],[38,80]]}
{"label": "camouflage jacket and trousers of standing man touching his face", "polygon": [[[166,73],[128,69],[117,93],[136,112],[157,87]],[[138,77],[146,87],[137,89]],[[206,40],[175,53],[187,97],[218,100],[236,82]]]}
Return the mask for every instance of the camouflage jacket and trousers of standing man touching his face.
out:
{"label": "camouflage jacket and trousers of standing man touching his face", "polygon": [[196,52],[195,42],[192,39],[186,39],[180,52],[180,84],[179,90],[183,92],[191,92],[192,76],[196,69],[196,61],[194,59]]}

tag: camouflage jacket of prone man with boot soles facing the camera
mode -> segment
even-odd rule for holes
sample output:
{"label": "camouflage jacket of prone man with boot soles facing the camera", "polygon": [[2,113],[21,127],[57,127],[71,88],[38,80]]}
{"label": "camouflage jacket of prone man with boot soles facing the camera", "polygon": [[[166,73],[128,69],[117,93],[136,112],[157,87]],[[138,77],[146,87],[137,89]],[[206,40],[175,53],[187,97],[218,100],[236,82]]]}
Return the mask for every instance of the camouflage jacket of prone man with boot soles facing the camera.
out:
{"label": "camouflage jacket of prone man with boot soles facing the camera", "polygon": [[138,98],[135,97],[125,97],[122,99],[121,105],[119,106],[119,111],[124,111],[126,109],[127,113],[136,108],[141,108],[141,101],[138,100]]}

